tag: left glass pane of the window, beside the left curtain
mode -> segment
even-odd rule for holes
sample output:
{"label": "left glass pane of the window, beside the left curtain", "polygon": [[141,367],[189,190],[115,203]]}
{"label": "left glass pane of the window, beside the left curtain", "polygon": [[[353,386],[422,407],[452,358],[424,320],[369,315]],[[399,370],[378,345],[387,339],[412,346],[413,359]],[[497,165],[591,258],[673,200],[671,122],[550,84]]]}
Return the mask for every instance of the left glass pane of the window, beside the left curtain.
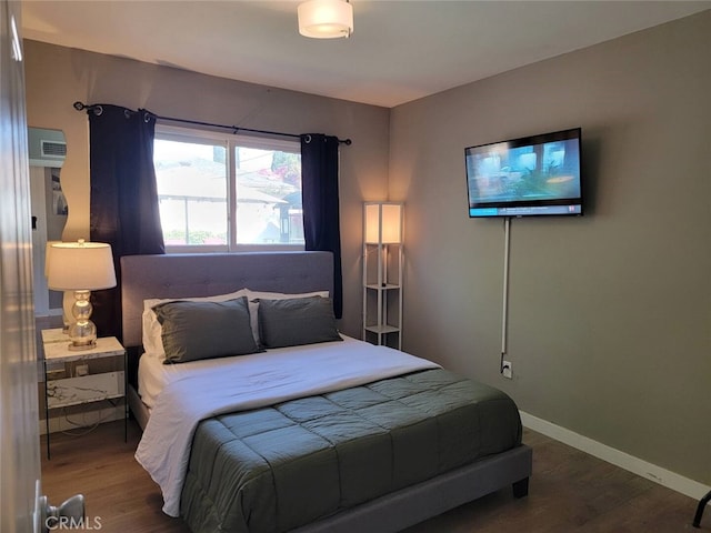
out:
{"label": "left glass pane of the window, beside the left curtain", "polygon": [[227,245],[227,148],[156,139],[153,164],[166,245]]}

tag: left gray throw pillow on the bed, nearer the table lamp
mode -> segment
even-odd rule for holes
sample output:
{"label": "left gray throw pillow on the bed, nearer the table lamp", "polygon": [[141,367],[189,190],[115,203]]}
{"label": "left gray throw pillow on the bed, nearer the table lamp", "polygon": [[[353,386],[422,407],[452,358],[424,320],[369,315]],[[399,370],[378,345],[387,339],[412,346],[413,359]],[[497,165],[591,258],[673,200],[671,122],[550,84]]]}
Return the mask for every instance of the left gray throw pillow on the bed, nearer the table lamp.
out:
{"label": "left gray throw pillow on the bed, nearer the table lamp", "polygon": [[259,352],[247,298],[227,302],[177,301],[153,308],[161,324],[166,363]]}

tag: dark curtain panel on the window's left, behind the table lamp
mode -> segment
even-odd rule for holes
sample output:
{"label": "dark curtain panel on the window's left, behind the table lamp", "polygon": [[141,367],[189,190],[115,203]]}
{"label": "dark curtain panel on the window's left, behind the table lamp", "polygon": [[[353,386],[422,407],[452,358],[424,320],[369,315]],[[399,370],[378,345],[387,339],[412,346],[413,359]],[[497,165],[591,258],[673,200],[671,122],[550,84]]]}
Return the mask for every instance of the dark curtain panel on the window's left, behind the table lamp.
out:
{"label": "dark curtain panel on the window's left, behind the table lamp", "polygon": [[92,105],[89,114],[90,240],[113,252],[114,289],[92,293],[99,336],[121,338],[123,255],[166,253],[153,169],[154,117],[142,109]]}

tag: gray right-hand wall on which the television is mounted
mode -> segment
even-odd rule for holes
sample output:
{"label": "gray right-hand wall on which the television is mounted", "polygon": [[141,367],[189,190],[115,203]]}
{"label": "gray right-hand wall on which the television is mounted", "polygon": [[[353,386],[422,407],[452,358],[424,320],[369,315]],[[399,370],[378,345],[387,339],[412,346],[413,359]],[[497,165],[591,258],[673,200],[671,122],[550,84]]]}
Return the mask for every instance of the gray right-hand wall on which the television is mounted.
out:
{"label": "gray right-hand wall on which the television is mounted", "polygon": [[[393,109],[404,349],[711,484],[711,11]],[[583,218],[469,220],[464,148],[582,127]]]}

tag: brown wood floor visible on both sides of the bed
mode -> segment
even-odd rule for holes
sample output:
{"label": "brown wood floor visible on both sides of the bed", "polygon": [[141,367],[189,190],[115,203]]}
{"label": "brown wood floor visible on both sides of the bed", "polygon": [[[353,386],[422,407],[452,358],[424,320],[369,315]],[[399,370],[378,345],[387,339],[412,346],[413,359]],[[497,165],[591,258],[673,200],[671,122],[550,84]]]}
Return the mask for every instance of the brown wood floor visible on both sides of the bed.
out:
{"label": "brown wood floor visible on both sides of the bed", "polygon": [[[82,436],[53,434],[52,459],[42,459],[42,487],[50,503],[83,493],[87,522],[98,520],[102,533],[189,533],[179,519],[161,512],[158,486],[133,459],[139,438],[134,422],[129,423],[128,443],[122,422]],[[514,500],[503,490],[407,533],[711,531],[711,510],[701,529],[691,526],[698,502],[690,497],[532,431],[525,430],[524,442],[533,449],[528,497]],[[46,455],[44,438],[41,445]]]}

